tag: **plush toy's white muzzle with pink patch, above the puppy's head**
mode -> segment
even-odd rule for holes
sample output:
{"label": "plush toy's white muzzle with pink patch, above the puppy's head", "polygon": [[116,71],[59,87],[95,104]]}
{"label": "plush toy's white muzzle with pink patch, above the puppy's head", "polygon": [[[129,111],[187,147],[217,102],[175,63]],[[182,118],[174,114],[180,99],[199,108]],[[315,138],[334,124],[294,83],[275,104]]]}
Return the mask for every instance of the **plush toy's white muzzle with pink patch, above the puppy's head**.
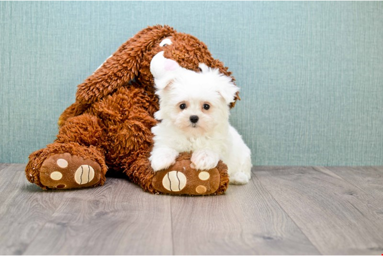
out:
{"label": "plush toy's white muzzle with pink patch, above the puppy's head", "polygon": [[157,53],[150,63],[150,71],[154,77],[156,89],[163,90],[172,84],[177,72],[181,69],[177,61],[165,58],[163,51]]}

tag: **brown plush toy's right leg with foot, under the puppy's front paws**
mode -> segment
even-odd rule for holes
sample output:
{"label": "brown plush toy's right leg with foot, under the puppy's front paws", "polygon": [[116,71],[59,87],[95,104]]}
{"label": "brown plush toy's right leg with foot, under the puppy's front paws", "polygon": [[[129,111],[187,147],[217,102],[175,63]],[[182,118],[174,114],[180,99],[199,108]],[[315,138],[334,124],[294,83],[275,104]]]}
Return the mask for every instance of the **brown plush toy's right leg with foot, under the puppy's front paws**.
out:
{"label": "brown plush toy's right leg with foot, under the puppy's front paws", "polygon": [[[192,155],[182,153],[174,165],[166,170],[154,172],[149,160],[153,146],[153,135],[149,129],[150,126],[153,126],[152,119],[150,116],[142,115],[139,119],[126,120],[123,125],[119,125],[119,130],[113,131],[113,136],[109,139],[121,145],[113,146],[113,148],[120,149],[119,157],[114,157],[114,159],[121,159],[118,162],[129,179],[150,193],[175,195],[219,195],[224,193],[229,179],[227,167],[222,162],[213,169],[199,171],[193,167],[190,161]],[[127,136],[128,134],[130,136]],[[139,134],[139,136],[134,136],[134,134]],[[135,147],[129,145],[135,145]]]}

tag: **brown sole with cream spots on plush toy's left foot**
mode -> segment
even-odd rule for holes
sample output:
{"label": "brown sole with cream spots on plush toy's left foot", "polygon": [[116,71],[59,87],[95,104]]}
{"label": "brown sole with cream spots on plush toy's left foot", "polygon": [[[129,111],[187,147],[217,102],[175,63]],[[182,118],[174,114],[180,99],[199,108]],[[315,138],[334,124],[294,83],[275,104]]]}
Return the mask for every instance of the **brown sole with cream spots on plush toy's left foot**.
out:
{"label": "brown sole with cream spots on plush toy's left foot", "polygon": [[101,166],[97,162],[69,153],[50,156],[40,168],[40,181],[49,188],[90,187],[100,179]]}

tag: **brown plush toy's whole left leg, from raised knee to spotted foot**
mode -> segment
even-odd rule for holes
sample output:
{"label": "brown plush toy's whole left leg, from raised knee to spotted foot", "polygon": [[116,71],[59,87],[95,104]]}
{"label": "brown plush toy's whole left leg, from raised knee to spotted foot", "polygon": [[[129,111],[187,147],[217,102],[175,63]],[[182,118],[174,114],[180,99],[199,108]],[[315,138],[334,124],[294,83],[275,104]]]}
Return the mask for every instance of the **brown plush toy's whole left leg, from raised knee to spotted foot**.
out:
{"label": "brown plush toy's whole left leg, from raised knee to spotted foot", "polygon": [[27,179],[43,189],[81,188],[105,182],[105,157],[100,144],[104,129],[89,114],[69,118],[54,143],[29,156]]}

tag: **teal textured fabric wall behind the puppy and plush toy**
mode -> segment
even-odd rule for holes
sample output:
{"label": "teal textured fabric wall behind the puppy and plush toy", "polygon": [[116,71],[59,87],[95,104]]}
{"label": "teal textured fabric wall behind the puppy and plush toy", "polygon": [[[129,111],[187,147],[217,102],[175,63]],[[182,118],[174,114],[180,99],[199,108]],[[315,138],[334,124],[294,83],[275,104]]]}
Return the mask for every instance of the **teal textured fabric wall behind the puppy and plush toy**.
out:
{"label": "teal textured fabric wall behind the puppy and plush toy", "polygon": [[383,164],[383,3],[0,2],[0,162],[51,143],[123,42],[168,24],[238,80],[232,124],[257,165]]}

